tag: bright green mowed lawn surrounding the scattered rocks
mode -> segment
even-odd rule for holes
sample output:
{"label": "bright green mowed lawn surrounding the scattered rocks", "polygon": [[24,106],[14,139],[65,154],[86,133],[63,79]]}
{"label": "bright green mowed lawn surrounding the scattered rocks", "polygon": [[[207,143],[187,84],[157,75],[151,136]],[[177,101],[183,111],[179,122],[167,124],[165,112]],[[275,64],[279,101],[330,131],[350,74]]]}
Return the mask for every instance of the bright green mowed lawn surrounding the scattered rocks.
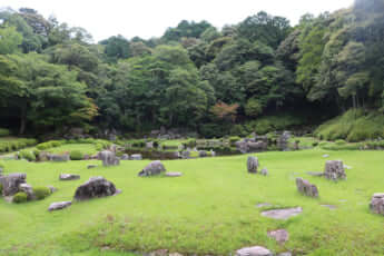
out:
{"label": "bright green mowed lawn surrounding the scattered rocks", "polygon": [[[255,154],[268,177],[248,175],[247,156],[164,161],[179,178],[139,178],[149,161],[121,161],[118,167],[88,170],[88,164],[6,161],[6,171],[27,173],[32,186],[59,190],[41,201],[23,205],[0,200],[0,255],[131,255],[129,252],[169,249],[181,254],[228,255],[260,245],[295,255],[384,255],[384,217],[370,213],[374,193],[384,191],[383,151],[331,151],[352,167],[347,180],[312,177],[321,171],[324,150]],[[60,173],[81,179],[59,181]],[[120,195],[75,203],[48,213],[53,201],[71,200],[76,188],[92,176],[104,176]],[[318,186],[319,198],[302,196],[295,178]],[[288,220],[260,216],[258,203],[302,206]],[[335,205],[331,210],[322,204]],[[267,232],[285,228],[289,240],[279,245]]]}

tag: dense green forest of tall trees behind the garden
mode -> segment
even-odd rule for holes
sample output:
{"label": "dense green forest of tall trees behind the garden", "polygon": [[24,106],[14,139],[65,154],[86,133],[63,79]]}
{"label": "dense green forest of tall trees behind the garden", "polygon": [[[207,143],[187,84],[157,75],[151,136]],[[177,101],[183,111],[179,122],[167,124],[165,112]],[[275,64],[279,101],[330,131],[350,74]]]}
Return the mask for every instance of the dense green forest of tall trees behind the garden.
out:
{"label": "dense green forest of tall trees behind the garden", "polygon": [[166,127],[214,137],[268,116],[311,125],[384,109],[384,0],[295,27],[259,12],[221,30],[184,20],[160,38],[98,43],[33,9],[0,19],[0,121],[21,135]]}

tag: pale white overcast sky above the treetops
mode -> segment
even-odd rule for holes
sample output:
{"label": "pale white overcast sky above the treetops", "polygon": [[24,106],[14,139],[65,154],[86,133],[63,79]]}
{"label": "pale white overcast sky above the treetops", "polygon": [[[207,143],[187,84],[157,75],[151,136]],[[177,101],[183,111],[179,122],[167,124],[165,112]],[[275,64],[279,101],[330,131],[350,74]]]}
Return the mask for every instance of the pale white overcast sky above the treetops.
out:
{"label": "pale white overcast sky above the treetops", "polygon": [[95,41],[115,35],[130,39],[160,37],[185,20],[207,20],[217,28],[265,10],[296,24],[306,12],[351,7],[353,0],[0,0],[0,7],[29,7],[48,18],[87,29]]}

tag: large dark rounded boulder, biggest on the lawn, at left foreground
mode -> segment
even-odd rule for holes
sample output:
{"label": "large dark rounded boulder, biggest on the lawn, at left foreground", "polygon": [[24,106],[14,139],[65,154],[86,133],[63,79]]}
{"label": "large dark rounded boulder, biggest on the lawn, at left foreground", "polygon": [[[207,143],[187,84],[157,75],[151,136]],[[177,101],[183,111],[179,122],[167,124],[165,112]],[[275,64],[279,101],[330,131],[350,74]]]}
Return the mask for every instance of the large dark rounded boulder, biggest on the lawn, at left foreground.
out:
{"label": "large dark rounded boulder, biggest on the lawn, at left foreground", "polygon": [[76,189],[75,200],[88,200],[91,198],[112,196],[118,190],[115,185],[104,177],[92,177]]}

